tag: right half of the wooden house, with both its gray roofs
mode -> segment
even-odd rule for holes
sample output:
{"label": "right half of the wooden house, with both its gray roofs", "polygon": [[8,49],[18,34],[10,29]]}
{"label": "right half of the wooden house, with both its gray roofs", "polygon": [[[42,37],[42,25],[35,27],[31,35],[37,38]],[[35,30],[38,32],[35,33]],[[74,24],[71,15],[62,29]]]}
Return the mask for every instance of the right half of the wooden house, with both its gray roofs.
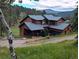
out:
{"label": "right half of the wooden house, with both its gray roofs", "polygon": [[56,17],[53,15],[44,15],[48,24],[48,30],[50,34],[67,33],[71,31],[71,26],[64,22],[62,17]]}

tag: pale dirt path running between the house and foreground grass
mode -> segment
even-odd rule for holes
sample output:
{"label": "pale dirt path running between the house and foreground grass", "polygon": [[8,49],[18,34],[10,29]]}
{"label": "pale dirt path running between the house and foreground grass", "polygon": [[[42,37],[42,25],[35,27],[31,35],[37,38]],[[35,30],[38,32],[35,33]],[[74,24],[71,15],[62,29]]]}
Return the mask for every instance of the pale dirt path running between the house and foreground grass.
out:
{"label": "pale dirt path running between the house and foreground grass", "polygon": [[[39,38],[33,38],[33,39],[22,39],[14,40],[14,47],[27,47],[27,46],[36,46],[40,44],[47,44],[47,43],[57,43],[62,42],[64,40],[74,40],[76,35],[69,35],[64,37],[52,37],[49,39],[39,39]],[[8,47],[8,41],[7,40],[0,40],[0,47]]]}

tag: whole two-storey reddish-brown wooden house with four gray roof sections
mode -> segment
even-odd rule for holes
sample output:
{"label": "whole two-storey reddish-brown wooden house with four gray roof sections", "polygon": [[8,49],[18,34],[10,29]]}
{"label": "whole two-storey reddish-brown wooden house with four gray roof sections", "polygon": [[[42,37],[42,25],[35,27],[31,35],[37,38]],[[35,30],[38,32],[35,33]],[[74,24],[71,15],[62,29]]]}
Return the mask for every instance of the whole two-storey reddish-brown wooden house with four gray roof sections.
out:
{"label": "whole two-storey reddish-brown wooden house with four gray roof sections", "polygon": [[46,30],[54,35],[71,31],[69,23],[65,23],[62,17],[53,15],[27,15],[20,21],[19,28],[21,36],[42,36]]}

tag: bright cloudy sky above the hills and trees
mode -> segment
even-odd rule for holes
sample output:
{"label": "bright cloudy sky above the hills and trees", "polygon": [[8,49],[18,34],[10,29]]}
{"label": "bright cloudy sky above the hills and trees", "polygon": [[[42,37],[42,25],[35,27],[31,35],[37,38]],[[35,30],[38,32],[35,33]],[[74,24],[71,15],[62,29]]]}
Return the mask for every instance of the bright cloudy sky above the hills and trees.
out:
{"label": "bright cloudy sky above the hills and trees", "polygon": [[71,11],[76,8],[77,0],[39,0],[39,2],[33,0],[22,0],[19,3],[15,0],[13,5],[23,6],[24,8],[35,8],[37,10],[52,9],[56,11]]}

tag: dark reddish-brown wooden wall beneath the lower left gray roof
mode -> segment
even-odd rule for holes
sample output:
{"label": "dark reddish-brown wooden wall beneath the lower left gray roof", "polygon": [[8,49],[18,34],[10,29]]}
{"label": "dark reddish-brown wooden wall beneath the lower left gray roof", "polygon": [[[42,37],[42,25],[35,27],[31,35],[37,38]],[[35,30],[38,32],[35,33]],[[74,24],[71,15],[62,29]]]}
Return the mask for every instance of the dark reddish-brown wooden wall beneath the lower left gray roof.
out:
{"label": "dark reddish-brown wooden wall beneath the lower left gray roof", "polygon": [[35,31],[31,31],[28,29],[28,27],[22,25],[19,27],[20,28],[20,36],[40,36],[41,35],[41,31],[42,30],[35,30]]}

